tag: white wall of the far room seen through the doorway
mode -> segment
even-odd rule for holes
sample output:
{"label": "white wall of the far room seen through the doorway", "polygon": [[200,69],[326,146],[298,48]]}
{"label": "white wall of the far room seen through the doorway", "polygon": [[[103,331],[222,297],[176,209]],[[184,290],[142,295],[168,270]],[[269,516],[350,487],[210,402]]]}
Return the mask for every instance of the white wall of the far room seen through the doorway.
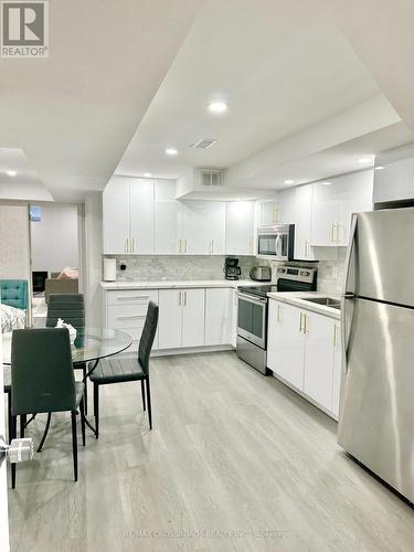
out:
{"label": "white wall of the far room seen through the doorway", "polygon": [[41,209],[42,220],[31,222],[32,270],[78,267],[77,205],[51,203]]}

